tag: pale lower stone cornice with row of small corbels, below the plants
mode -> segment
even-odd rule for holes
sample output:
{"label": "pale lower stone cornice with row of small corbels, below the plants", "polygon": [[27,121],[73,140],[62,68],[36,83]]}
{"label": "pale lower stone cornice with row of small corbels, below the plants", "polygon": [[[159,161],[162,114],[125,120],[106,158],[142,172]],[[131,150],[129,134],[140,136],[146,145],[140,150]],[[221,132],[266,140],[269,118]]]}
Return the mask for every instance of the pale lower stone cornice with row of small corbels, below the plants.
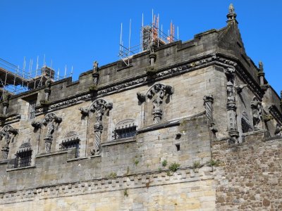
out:
{"label": "pale lower stone cornice with row of small corbels, below the plants", "polygon": [[128,176],[118,176],[116,178],[107,177],[87,181],[69,182],[66,184],[39,186],[35,188],[2,192],[0,193],[0,204],[203,181],[213,179],[214,176],[212,172],[213,167],[201,167],[199,172],[194,172],[193,167],[183,167],[177,172],[171,173],[171,175],[167,174],[166,170],[161,170],[130,174]]}

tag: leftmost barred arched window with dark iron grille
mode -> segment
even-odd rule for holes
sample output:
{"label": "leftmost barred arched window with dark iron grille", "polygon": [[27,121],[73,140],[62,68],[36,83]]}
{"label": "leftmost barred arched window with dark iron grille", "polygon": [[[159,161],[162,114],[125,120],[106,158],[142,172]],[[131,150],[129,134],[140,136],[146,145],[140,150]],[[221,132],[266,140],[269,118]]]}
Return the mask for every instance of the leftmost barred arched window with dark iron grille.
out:
{"label": "leftmost barred arched window with dark iron grille", "polygon": [[16,153],[15,168],[30,166],[31,155],[32,148],[30,143],[23,143]]}

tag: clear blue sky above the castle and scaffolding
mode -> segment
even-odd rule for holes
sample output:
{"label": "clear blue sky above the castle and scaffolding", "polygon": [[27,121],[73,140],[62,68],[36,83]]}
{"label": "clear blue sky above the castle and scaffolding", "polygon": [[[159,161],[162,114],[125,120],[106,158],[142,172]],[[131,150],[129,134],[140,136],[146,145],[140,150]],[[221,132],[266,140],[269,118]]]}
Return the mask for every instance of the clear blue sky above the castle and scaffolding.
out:
{"label": "clear blue sky above the castle and scaffolding", "polygon": [[282,1],[74,1],[0,0],[0,58],[23,67],[23,57],[68,73],[73,65],[73,80],[81,72],[118,60],[120,28],[128,42],[132,20],[132,44],[139,44],[142,13],[145,25],[152,21],[152,9],[159,13],[167,32],[171,20],[179,27],[179,38],[226,25],[228,5],[234,4],[247,55],[264,63],[266,79],[280,94],[282,89]]}

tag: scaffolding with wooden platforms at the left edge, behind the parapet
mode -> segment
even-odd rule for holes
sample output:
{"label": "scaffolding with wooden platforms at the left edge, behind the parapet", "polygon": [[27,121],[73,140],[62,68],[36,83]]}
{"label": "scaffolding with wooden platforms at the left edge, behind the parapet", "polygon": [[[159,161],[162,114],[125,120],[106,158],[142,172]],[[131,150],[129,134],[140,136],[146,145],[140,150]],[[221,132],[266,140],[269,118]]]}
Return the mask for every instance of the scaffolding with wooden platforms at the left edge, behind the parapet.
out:
{"label": "scaffolding with wooden platforms at the left edge, behind the parapet", "polygon": [[[71,75],[73,70],[71,72]],[[47,79],[50,79],[54,82],[59,79],[67,77],[66,70],[64,77],[55,75],[55,70],[43,65],[42,68],[37,67],[35,70],[32,70],[32,60],[30,63],[30,68],[28,71],[25,70],[25,60],[23,64],[23,69],[20,69],[19,66],[13,65],[8,61],[0,58],[0,96],[2,99],[4,91],[8,91],[9,94],[19,94],[23,91],[28,91],[30,89],[36,89],[45,84]]]}

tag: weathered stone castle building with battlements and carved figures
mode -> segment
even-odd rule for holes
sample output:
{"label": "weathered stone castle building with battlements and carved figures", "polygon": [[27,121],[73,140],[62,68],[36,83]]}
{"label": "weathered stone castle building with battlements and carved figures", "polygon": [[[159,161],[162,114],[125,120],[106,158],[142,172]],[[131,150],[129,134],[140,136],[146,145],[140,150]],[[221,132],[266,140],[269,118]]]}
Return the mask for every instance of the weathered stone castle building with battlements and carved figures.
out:
{"label": "weathered stone castle building with battlements and carved figures", "polygon": [[5,92],[0,210],[282,210],[281,98],[227,18]]}

